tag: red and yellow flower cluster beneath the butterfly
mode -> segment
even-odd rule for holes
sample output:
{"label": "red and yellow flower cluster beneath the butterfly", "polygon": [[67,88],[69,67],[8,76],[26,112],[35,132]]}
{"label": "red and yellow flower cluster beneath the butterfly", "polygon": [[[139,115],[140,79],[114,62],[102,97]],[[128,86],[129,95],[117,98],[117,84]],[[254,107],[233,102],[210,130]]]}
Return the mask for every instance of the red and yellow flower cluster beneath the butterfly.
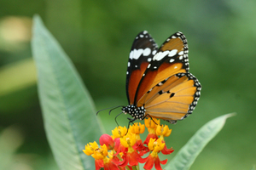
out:
{"label": "red and yellow flower cluster beneath the butterfly", "polygon": [[[148,128],[148,136],[143,142],[140,134]],[[145,163],[144,169],[155,167],[161,170],[160,164],[166,164],[167,159],[160,161],[158,154],[169,155],[172,148],[167,149],[164,137],[168,137],[172,129],[160,125],[160,120],[155,118],[145,119],[145,124],[134,123],[127,131],[126,127],[115,127],[112,136],[103,134],[100,146],[96,142],[85,145],[84,153],[95,159],[96,170],[126,170],[139,169],[139,163]],[[149,153],[149,155],[148,155]],[[143,156],[148,155],[143,158]]]}

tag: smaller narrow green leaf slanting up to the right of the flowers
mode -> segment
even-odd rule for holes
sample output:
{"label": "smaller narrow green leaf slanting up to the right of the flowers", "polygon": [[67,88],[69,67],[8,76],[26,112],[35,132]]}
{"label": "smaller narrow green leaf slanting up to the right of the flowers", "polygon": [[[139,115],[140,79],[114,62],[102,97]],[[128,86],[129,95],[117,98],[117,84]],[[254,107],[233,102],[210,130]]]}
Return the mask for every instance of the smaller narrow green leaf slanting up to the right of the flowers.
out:
{"label": "smaller narrow green leaf slanting up to the right of the flowers", "polygon": [[177,155],[165,167],[166,170],[187,170],[191,167],[195,158],[201,153],[201,150],[210,142],[217,133],[224,127],[227,118],[234,114],[218,116],[210,122],[207,122],[195,135],[189,139],[189,142],[178,151]]}

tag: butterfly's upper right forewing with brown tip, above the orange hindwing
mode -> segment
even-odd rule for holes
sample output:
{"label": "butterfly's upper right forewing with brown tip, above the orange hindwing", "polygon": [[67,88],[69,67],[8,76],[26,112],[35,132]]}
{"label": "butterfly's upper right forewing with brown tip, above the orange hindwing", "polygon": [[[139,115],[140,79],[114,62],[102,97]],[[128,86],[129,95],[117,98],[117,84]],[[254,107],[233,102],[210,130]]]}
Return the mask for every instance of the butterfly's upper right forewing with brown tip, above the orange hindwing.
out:
{"label": "butterfly's upper right forewing with brown tip, above the orange hindwing", "polygon": [[166,42],[163,43],[157,54],[154,55],[152,61],[148,64],[139,82],[135,94],[137,106],[141,106],[140,103],[143,103],[143,101],[139,100],[157,83],[177,73],[189,72],[188,53],[187,39],[182,32],[178,31],[166,39]]}

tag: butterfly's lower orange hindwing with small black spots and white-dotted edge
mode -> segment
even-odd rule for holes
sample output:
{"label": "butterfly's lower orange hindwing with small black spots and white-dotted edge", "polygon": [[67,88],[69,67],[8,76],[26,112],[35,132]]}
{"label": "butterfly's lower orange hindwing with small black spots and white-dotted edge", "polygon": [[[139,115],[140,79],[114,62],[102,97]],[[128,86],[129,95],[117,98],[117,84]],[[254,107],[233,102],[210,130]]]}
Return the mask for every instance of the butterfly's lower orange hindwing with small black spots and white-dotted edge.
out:
{"label": "butterfly's lower orange hindwing with small black spots and white-dotted edge", "polygon": [[183,120],[200,98],[201,84],[190,73],[177,73],[159,82],[143,96],[146,115],[168,122]]}

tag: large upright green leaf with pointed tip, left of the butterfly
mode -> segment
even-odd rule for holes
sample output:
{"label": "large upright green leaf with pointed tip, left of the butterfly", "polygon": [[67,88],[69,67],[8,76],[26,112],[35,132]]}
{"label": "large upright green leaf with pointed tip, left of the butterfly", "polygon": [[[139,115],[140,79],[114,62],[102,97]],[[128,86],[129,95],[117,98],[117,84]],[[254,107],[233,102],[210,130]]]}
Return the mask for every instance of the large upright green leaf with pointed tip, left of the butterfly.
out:
{"label": "large upright green leaf with pointed tip, left of the butterfly", "polygon": [[95,106],[71,60],[38,15],[33,22],[32,55],[38,70],[38,93],[55,161],[60,169],[93,169],[93,158],[82,150],[102,134]]}

